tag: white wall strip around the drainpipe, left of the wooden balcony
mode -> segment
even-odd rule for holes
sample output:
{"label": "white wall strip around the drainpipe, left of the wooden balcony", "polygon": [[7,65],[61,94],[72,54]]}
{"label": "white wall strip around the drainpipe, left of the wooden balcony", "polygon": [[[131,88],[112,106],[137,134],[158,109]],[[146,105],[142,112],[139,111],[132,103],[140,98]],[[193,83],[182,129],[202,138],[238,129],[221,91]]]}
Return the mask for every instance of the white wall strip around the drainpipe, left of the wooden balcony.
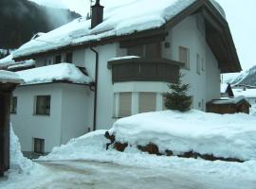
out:
{"label": "white wall strip around the drainpipe, left of the wooden balcony", "polygon": [[[112,111],[114,106],[112,71],[107,68],[107,62],[117,57],[118,45],[118,43],[110,43],[95,47],[99,52],[97,129],[110,129],[115,121]],[[93,78],[95,78],[95,61],[95,53],[89,48],[85,49],[85,67]]]}

